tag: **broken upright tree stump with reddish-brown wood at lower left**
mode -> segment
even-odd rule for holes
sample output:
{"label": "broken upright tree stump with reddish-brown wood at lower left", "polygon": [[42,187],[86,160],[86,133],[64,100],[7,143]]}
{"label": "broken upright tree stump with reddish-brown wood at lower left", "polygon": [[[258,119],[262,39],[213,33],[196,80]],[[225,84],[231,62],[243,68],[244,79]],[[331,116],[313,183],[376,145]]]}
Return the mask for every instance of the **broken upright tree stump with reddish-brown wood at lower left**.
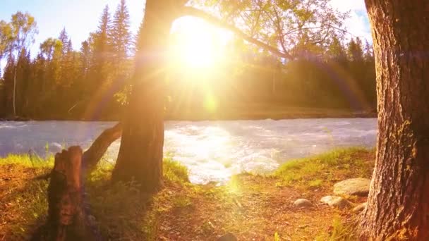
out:
{"label": "broken upright tree stump with reddish-brown wood at lower left", "polygon": [[32,240],[97,240],[83,211],[81,165],[80,147],[55,155],[48,187],[47,223]]}

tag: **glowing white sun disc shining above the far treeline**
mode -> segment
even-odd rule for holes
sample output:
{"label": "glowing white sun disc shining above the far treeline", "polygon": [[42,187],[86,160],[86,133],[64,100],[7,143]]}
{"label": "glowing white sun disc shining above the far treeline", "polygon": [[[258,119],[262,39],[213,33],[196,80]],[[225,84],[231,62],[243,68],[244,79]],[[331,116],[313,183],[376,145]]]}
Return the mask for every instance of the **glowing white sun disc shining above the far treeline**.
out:
{"label": "glowing white sun disc shining above the far treeline", "polygon": [[229,33],[195,18],[181,18],[171,32],[170,57],[174,68],[208,71],[225,58]]}

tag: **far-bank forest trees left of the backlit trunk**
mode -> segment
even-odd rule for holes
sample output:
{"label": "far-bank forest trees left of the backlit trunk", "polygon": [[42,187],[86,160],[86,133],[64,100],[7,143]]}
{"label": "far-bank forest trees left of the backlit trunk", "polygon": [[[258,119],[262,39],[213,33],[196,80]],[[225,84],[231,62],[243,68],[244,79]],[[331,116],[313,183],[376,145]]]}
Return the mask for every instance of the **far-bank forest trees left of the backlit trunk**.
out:
{"label": "far-bank forest trees left of the backlit trunk", "polygon": [[[58,39],[49,37],[40,44],[40,53],[34,60],[30,59],[27,49],[37,33],[35,18],[29,13],[17,12],[11,23],[1,21],[0,58],[4,57],[6,49],[13,47],[4,73],[6,114],[15,112],[15,102],[19,116],[81,118],[85,111],[95,111],[87,108],[90,102],[103,102],[103,110],[97,118],[117,118],[121,105],[114,100],[114,94],[123,88],[133,71],[133,63],[128,58],[131,34],[125,1],[121,1],[120,6],[121,11],[116,15],[120,20],[114,23],[110,20],[109,9],[104,9],[97,32],[82,43],[81,51],[73,50],[71,39],[63,29]],[[120,39],[112,42],[119,34]],[[122,48],[113,49],[111,44],[119,44]],[[121,56],[121,63],[114,60],[114,56]],[[111,67],[113,64],[115,68]],[[13,95],[16,100],[9,101]],[[92,115],[90,113],[89,118]]]}

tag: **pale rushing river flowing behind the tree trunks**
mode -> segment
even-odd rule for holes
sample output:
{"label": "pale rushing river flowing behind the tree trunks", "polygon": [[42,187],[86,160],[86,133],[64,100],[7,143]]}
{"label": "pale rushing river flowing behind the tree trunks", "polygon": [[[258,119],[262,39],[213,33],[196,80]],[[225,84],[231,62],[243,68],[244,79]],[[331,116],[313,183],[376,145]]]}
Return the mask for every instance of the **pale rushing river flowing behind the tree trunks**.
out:
{"label": "pale rushing river flowing behind the tree trunks", "polygon": [[[84,149],[112,122],[0,122],[0,156]],[[374,147],[375,118],[262,121],[166,121],[164,154],[188,167],[193,183],[224,182],[243,171],[272,171],[290,159],[337,147]],[[114,161],[120,141],[106,158]]]}

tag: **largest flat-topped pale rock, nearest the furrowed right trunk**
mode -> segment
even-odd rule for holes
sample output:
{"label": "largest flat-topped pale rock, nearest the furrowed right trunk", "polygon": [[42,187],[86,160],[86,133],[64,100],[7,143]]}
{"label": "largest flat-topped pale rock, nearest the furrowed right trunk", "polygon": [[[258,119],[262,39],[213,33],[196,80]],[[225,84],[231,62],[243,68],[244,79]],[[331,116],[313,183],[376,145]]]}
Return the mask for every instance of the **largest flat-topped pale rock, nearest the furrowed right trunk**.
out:
{"label": "largest flat-topped pale rock, nearest the furrowed right trunk", "polygon": [[334,185],[336,195],[368,196],[371,180],[367,178],[351,178]]}

